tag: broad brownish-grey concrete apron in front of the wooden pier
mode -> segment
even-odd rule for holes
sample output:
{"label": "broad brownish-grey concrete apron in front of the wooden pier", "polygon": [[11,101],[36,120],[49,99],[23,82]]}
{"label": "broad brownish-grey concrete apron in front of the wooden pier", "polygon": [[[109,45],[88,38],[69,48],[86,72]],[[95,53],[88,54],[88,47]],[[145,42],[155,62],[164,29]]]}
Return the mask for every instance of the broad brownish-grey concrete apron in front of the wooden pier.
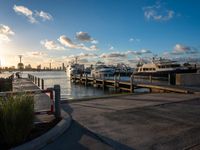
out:
{"label": "broad brownish-grey concrete apron in front of the wooden pier", "polygon": [[199,94],[133,94],[62,107],[117,150],[200,148]]}

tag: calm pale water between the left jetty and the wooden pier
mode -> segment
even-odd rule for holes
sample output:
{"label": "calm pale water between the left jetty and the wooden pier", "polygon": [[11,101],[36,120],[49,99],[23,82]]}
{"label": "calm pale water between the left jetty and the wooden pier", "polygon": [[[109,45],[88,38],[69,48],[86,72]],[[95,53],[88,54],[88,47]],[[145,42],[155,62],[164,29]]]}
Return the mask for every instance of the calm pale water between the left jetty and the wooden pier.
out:
{"label": "calm pale water between the left jetty and the wooden pier", "polygon": [[24,72],[23,77],[27,74],[32,74],[39,78],[44,79],[45,88],[53,87],[55,84],[61,86],[62,99],[77,99],[92,96],[103,96],[116,93],[114,90],[103,90],[93,86],[84,86],[70,82],[69,77],[66,76],[64,71],[41,71],[41,72]]}

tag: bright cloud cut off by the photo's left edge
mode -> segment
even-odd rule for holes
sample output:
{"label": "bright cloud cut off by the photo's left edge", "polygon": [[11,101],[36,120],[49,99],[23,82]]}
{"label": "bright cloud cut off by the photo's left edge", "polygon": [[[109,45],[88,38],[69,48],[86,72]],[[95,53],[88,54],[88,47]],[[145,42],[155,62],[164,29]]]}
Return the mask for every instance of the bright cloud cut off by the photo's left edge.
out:
{"label": "bright cloud cut off by the photo's left edge", "polygon": [[15,33],[10,29],[10,27],[0,24],[0,41],[9,42],[9,36],[14,35]]}

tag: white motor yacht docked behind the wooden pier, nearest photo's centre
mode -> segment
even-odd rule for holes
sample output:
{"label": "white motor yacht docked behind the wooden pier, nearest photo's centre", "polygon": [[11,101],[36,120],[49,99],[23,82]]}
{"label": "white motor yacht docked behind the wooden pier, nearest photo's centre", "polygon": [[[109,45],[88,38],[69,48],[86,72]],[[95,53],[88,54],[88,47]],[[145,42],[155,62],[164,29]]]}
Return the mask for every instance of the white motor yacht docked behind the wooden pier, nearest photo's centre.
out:
{"label": "white motor yacht docked behind the wooden pier, nearest photo's centre", "polygon": [[91,70],[91,75],[96,78],[110,77],[115,74],[115,69],[102,62],[97,62]]}

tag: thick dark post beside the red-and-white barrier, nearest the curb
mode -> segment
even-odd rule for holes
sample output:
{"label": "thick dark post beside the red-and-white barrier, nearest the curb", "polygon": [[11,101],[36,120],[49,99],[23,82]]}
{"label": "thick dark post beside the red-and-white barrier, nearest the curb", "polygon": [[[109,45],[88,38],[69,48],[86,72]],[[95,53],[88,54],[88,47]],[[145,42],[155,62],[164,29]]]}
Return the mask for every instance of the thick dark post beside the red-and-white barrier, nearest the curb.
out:
{"label": "thick dark post beside the red-and-white barrier, nearest the curb", "polygon": [[61,110],[60,110],[60,85],[54,85],[55,91],[55,117],[61,118]]}

